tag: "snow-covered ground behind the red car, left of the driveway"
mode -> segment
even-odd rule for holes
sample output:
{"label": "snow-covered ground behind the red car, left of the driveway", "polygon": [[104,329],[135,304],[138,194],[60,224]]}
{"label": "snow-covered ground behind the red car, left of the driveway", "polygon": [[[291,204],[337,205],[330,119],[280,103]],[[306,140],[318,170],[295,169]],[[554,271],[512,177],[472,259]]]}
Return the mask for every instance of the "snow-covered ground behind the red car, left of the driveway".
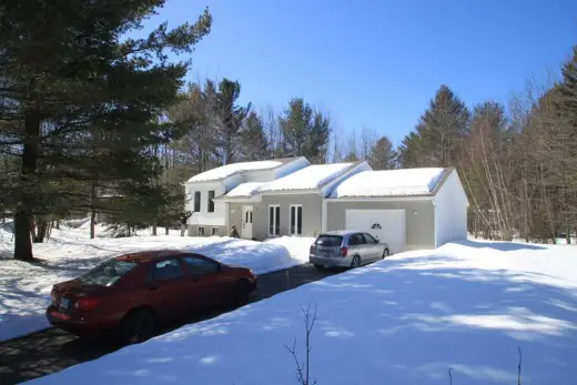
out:
{"label": "snow-covered ground behind the red car, left of the driveway", "polygon": [[[102,233],[102,229],[99,229]],[[194,250],[223,263],[252,269],[256,274],[291,267],[308,261],[313,239],[284,236],[270,242],[231,237],[189,237],[148,235],[110,239],[88,237],[89,230],[53,230],[48,243],[34,244],[34,256],[41,262],[26,263],[12,259],[12,234],[0,229],[0,341],[26,335],[49,326],[44,308],[52,285],[79,276],[107,259],[139,250]],[[159,229],[163,234],[164,229]]]}

